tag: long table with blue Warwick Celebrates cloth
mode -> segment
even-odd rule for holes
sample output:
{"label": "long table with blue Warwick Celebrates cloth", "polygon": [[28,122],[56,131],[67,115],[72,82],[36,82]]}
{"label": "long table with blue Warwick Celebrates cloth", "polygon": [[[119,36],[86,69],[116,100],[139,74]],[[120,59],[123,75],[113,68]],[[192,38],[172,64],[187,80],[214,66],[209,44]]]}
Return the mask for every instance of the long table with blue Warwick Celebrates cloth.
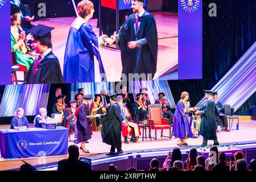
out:
{"label": "long table with blue Warwick Celebrates cloth", "polygon": [[68,129],[0,130],[1,156],[7,159],[68,154]]}

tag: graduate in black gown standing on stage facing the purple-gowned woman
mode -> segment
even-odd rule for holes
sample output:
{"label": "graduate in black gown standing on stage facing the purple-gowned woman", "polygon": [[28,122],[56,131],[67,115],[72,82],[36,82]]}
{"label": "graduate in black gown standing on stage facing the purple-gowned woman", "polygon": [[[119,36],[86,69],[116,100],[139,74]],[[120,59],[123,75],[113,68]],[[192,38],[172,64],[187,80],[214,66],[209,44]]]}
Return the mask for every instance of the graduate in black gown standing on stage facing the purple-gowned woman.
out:
{"label": "graduate in black gown standing on stage facing the purple-gowned woman", "polygon": [[[112,106],[109,108],[108,112],[102,115],[100,119],[101,127],[101,137],[102,142],[109,144],[111,146],[110,152],[106,155],[119,155],[122,154],[122,142],[121,142],[121,130],[122,121],[121,109],[117,102],[118,94],[110,95],[110,103]],[[115,148],[117,148],[117,153],[115,153]]]}

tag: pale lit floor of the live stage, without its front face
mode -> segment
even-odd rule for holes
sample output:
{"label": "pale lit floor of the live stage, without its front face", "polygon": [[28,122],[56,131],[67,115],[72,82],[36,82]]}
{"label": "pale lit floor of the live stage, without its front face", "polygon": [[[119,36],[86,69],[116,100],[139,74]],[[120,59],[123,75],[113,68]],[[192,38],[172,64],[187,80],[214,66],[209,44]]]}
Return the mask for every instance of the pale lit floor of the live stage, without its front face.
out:
{"label": "pale lit floor of the live stage, without its front face", "polygon": [[[236,130],[236,121],[233,122],[233,129],[230,132],[221,131],[218,128],[219,132],[217,133],[218,141],[220,142],[221,146],[225,145],[236,145],[241,143],[256,143],[255,141],[255,132],[256,132],[256,123],[255,121],[251,120],[251,117],[243,117],[240,116],[240,129]],[[33,127],[32,124],[30,124]],[[0,125],[0,129],[9,129],[10,125]],[[154,131],[151,131],[152,137],[155,137]],[[148,134],[148,130],[147,130]],[[168,135],[168,131],[164,131],[164,135]],[[73,140],[73,135],[71,135],[71,140]],[[122,138],[123,140],[123,138]],[[124,143],[122,141],[122,150],[124,151],[124,155],[131,155],[137,154],[137,152],[146,152],[146,151],[157,151],[161,153],[161,156],[166,157],[167,151],[172,150],[175,147],[179,147],[180,149],[189,150],[189,148],[200,146],[202,143],[203,138],[200,136],[197,139],[188,139],[187,143],[188,146],[177,146],[175,137],[172,137],[171,140],[168,138],[160,138],[160,131],[158,131],[158,140],[147,138],[142,141],[142,138],[139,138],[137,143],[130,142],[129,144]],[[212,144],[213,141],[209,141],[209,144]],[[73,141],[69,142],[69,145],[73,144]],[[79,144],[78,144],[79,146]],[[107,163],[112,161],[112,163],[117,160],[112,158],[106,158],[106,153],[109,152],[110,146],[105,143],[102,143],[101,133],[100,131],[93,132],[92,139],[89,140],[89,143],[86,144],[86,148],[90,151],[89,154],[84,154],[80,152],[81,158],[91,158],[96,165],[96,161],[99,160],[101,163]],[[162,152],[161,152],[162,151]],[[256,152],[254,152],[256,155]],[[150,156],[148,156],[149,158]],[[256,156],[255,156],[256,157]],[[61,155],[61,156],[47,156],[46,158],[23,158],[23,159],[4,159],[0,158],[0,171],[1,170],[10,170],[10,169],[17,169],[19,168],[25,160],[26,162],[36,166],[39,164],[46,163],[47,165],[39,165],[39,166],[56,166],[56,162],[61,159],[68,158],[68,155]],[[104,158],[104,159],[102,159]],[[121,156],[120,156],[121,158]],[[126,156],[127,158],[127,156]],[[119,159],[118,159],[119,160]],[[94,165],[93,164],[93,165]],[[96,168],[97,169],[97,168]]]}

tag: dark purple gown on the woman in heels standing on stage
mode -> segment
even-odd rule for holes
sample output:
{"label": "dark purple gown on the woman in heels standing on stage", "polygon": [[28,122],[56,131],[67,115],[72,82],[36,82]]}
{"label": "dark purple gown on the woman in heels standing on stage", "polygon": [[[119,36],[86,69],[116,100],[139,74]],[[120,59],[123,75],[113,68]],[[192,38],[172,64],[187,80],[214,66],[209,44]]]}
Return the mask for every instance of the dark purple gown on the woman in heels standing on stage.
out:
{"label": "dark purple gown on the woman in heels standing on stage", "polygon": [[90,122],[90,118],[87,118],[89,113],[89,105],[81,104],[77,109],[77,142],[85,142],[92,138],[92,125]]}

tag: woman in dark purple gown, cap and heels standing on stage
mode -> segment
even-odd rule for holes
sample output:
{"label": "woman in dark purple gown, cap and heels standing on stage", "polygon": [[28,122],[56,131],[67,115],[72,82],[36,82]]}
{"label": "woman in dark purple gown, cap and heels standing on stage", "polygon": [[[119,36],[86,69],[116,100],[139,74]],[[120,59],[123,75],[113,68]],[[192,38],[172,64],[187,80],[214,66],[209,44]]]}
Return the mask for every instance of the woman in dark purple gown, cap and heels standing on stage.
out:
{"label": "woman in dark purple gown, cap and heels standing on stage", "polygon": [[92,138],[92,124],[90,119],[95,118],[94,115],[90,115],[89,103],[93,96],[86,94],[82,96],[82,104],[76,110],[75,116],[77,118],[77,142],[81,143],[80,150],[89,153],[85,147],[85,143],[89,143],[88,140]]}

